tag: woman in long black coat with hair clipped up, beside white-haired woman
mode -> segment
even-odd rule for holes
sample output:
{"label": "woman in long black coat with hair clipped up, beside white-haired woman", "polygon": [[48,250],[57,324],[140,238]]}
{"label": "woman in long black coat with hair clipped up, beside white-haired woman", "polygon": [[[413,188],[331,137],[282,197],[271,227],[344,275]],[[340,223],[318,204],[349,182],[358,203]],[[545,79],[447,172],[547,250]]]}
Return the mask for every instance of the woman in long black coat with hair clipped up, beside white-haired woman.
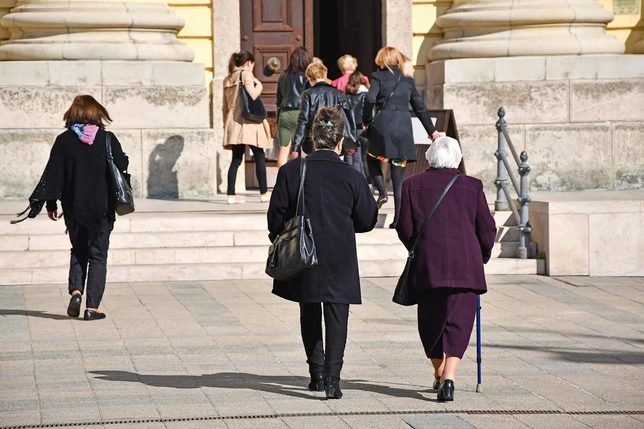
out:
{"label": "woman in long black coat with hair clipped up, beside white-haired woman", "polygon": [[[310,390],[339,399],[349,305],[360,304],[355,233],[374,229],[378,209],[365,177],[340,159],[345,120],[337,108],[322,108],[313,120],[315,151],[278,171],[270,198],[271,241],[296,215],[300,167],[307,162],[305,213],[316,242],[318,265],[288,281],[274,281],[273,293],[299,302]],[[323,303],[323,305],[321,304]],[[326,340],[322,339],[324,312]],[[326,348],[324,347],[326,343]]]}

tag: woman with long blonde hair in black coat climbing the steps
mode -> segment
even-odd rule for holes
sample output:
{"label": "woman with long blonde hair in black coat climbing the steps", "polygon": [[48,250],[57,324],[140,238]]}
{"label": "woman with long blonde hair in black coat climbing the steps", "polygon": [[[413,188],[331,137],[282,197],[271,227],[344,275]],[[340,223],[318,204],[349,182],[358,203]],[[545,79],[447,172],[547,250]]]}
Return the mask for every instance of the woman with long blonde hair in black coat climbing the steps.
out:
{"label": "woman with long blonde hair in black coat climbing the steps", "polygon": [[[372,74],[371,88],[366,95],[363,121],[370,124],[368,131],[369,173],[380,194],[378,207],[387,202],[381,161],[388,162],[392,169],[393,201],[395,215],[390,228],[395,228],[401,203],[401,187],[404,180],[404,167],[407,162],[416,160],[416,147],[413,142],[412,117],[409,106],[421,120],[431,140],[444,133],[434,128],[430,112],[422,102],[413,77],[405,74],[404,62],[407,58],[396,48],[385,46],[379,50],[375,63],[381,70]],[[374,108],[376,112],[374,117]]]}

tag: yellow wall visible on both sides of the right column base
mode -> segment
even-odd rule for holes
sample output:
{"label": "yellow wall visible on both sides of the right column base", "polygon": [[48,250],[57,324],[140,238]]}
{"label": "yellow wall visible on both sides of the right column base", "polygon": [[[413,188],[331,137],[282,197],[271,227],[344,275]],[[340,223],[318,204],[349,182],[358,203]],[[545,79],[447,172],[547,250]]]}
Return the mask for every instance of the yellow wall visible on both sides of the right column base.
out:
{"label": "yellow wall visible on both sides of the right column base", "polygon": [[[427,53],[435,41],[441,37],[436,19],[444,14],[451,1],[412,0],[413,1],[413,61],[417,84],[425,84],[424,66]],[[620,0],[599,0],[604,8],[614,12],[614,2]],[[639,0],[639,14],[616,14],[608,25],[607,32],[626,44],[626,53],[632,53],[632,44],[644,33],[644,0]]]}

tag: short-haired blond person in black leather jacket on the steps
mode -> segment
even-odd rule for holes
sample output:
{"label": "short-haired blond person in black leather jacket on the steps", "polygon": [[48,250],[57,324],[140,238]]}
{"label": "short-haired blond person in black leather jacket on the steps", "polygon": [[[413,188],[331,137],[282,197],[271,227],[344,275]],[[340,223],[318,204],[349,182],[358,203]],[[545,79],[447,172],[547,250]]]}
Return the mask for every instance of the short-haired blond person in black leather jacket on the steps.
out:
{"label": "short-haired blond person in black leather jacket on the steps", "polygon": [[[317,111],[323,107],[338,107],[346,103],[345,93],[327,83],[327,72],[327,67],[321,62],[312,62],[307,67],[307,78],[312,88],[308,88],[302,93],[298,128],[295,131],[291,153],[293,158],[299,156],[300,149],[307,154],[313,151],[311,129]],[[354,122],[353,117],[351,119],[351,122]],[[355,129],[349,129],[348,133],[355,133]]]}

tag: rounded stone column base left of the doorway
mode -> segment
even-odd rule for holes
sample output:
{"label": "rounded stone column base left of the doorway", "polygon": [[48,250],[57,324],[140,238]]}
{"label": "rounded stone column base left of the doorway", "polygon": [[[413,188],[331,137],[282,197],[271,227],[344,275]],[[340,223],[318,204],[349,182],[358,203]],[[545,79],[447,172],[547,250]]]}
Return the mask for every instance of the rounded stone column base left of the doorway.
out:
{"label": "rounded stone column base left of the doorway", "polygon": [[0,19],[0,60],[193,61],[176,39],[184,24],[166,3],[19,1]]}

